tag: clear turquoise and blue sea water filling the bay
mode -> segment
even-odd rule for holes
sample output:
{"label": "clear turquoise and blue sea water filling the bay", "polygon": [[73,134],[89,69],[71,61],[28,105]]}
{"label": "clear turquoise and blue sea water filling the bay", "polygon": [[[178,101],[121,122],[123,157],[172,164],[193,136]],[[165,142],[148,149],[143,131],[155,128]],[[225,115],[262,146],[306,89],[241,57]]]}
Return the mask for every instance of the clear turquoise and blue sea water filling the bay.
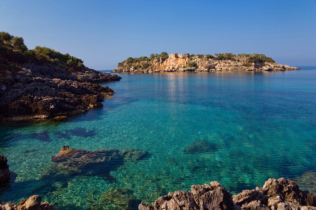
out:
{"label": "clear turquoise and blue sea water filling the bay", "polygon": [[[0,151],[17,177],[0,200],[40,194],[58,209],[135,209],[192,184],[216,180],[238,193],[270,177],[315,190],[316,67],[301,69],[119,74],[102,84],[116,94],[99,109],[4,124]],[[115,163],[107,176],[56,176],[51,156],[63,145],[149,155]]]}

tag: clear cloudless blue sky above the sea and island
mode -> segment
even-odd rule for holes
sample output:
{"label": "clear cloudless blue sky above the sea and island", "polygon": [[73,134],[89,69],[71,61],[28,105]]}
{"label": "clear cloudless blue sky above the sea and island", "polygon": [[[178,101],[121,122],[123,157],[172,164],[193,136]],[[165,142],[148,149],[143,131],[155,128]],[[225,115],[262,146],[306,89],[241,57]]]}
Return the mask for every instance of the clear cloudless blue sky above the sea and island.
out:
{"label": "clear cloudless blue sky above the sea and island", "polygon": [[0,0],[0,31],[97,70],[151,53],[260,53],[316,65],[316,1]]}

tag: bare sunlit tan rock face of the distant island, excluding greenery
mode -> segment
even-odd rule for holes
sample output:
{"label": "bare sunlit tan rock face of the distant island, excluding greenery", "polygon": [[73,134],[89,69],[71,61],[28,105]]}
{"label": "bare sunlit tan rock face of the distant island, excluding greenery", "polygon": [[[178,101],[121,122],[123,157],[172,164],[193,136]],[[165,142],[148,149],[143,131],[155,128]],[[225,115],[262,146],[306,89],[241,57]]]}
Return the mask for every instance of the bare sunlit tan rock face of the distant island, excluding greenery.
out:
{"label": "bare sunlit tan rock face of the distant island, excluding greenery", "polygon": [[[272,62],[255,61],[249,59],[247,56],[234,56],[230,59],[218,60],[215,57],[206,58],[198,56],[175,56],[178,54],[170,54],[166,60],[159,60],[157,58],[153,60],[147,60],[137,63],[128,64],[127,62],[118,65],[117,69],[111,72],[183,72],[183,71],[284,71],[284,70],[300,70],[296,67],[290,67],[288,65],[281,65]],[[250,61],[249,61],[250,60]],[[148,63],[150,65],[143,65]],[[195,64],[195,66],[188,66],[189,63]],[[139,66],[145,66],[139,67]]]}

